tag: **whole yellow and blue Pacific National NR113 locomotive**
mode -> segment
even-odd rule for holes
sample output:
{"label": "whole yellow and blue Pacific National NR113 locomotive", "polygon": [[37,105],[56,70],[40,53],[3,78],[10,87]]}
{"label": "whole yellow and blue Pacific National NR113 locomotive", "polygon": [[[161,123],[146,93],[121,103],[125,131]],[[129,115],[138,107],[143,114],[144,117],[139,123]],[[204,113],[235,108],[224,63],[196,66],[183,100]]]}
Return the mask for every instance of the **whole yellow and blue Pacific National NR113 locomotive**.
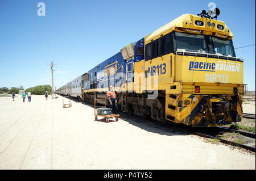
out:
{"label": "whole yellow and blue Pacific National NR113 locomotive", "polygon": [[181,15],[85,73],[81,99],[105,98],[112,85],[119,110],[162,123],[241,121],[243,59],[232,40],[221,20]]}

